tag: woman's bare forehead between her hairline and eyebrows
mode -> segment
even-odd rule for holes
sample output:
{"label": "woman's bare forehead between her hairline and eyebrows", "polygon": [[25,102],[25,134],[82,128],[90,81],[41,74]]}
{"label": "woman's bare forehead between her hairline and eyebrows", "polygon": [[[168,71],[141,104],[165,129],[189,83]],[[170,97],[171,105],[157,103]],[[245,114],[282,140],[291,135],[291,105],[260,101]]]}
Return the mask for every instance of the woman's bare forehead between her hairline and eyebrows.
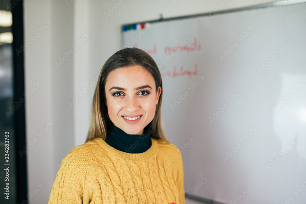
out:
{"label": "woman's bare forehead between her hairline and eyebrows", "polygon": [[107,76],[105,86],[142,86],[145,84],[152,85],[154,83],[155,81],[151,73],[145,68],[136,65],[120,67],[111,71]]}

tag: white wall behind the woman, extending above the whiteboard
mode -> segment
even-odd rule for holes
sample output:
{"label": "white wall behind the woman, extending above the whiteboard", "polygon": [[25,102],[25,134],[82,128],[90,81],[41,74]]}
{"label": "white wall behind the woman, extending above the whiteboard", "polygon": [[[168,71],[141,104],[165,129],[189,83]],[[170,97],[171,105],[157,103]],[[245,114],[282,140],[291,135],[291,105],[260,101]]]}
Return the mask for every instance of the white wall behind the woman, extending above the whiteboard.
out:
{"label": "white wall behind the woman, extending above the whiteboard", "polygon": [[[174,1],[174,0],[173,0]],[[66,2],[70,2],[67,4]],[[35,144],[27,151],[28,191],[38,184],[44,187],[30,203],[47,203],[62,159],[75,146],[84,143],[89,126],[89,111],[95,86],[89,86],[104,62],[121,49],[121,25],[159,18],[184,16],[213,11],[224,0],[177,1],[170,9],[170,0],[126,1],[107,19],[114,1],[97,0],[27,0],[24,1],[24,40],[35,40],[25,50],[25,91],[34,82],[41,86],[26,99],[27,143]],[[240,8],[272,2],[271,0],[230,0],[223,9]],[[39,36],[35,30],[45,20],[52,22]],[[47,25],[47,24],[45,24]],[[36,32],[37,33],[37,32]],[[84,38],[83,44],[73,43]],[[73,49],[74,53],[58,66],[59,57]],[[65,58],[65,57],[64,57]],[[95,81],[95,80],[94,80]],[[78,92],[86,93],[69,106]],[[48,122],[54,123],[50,128]],[[50,129],[48,129],[48,127]],[[37,132],[45,128],[40,138]]]}

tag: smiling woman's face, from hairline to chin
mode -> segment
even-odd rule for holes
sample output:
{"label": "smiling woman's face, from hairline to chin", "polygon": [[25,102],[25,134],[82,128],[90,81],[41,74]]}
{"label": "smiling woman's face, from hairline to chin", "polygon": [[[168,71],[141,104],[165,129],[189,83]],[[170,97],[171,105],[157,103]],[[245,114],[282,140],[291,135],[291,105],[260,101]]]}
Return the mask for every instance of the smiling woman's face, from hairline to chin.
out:
{"label": "smiling woman's face, from hairline to chin", "polygon": [[111,71],[105,84],[110,120],[127,134],[144,134],[144,127],[154,118],[161,90],[159,87],[156,93],[154,78],[139,65]]}

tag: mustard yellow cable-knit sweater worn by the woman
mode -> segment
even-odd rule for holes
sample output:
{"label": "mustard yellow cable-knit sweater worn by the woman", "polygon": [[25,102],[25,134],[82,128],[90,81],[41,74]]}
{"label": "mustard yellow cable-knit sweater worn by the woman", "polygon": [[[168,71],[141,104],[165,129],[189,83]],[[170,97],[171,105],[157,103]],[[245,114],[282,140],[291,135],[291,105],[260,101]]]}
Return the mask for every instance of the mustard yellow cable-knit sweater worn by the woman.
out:
{"label": "mustard yellow cable-knit sweater worn by the woman", "polygon": [[48,204],[185,204],[181,153],[151,138],[143,153],[127,153],[95,138],[62,160]]}

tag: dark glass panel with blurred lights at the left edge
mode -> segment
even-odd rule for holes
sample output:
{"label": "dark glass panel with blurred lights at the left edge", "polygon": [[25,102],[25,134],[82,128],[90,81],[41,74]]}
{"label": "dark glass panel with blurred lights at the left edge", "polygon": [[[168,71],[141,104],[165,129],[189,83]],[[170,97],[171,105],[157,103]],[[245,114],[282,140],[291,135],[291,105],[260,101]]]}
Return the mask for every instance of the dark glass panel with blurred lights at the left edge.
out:
{"label": "dark glass panel with blurred lights at the left edge", "polygon": [[10,111],[14,107],[13,35],[8,5],[9,0],[0,3],[0,203],[17,203],[15,127],[14,114]]}

